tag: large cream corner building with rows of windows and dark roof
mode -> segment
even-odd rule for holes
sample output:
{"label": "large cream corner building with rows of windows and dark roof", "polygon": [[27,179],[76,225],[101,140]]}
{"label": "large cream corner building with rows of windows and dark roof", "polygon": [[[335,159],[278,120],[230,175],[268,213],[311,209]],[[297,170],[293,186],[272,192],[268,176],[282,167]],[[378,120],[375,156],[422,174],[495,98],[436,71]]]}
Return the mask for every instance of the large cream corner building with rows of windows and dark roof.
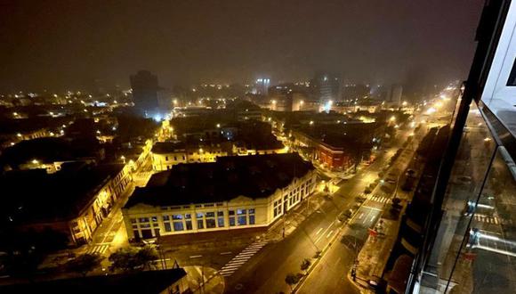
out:
{"label": "large cream corner building with rows of windows and dark roof", "polygon": [[314,167],[297,153],[217,158],[151,177],[123,208],[129,239],[266,227],[310,197]]}

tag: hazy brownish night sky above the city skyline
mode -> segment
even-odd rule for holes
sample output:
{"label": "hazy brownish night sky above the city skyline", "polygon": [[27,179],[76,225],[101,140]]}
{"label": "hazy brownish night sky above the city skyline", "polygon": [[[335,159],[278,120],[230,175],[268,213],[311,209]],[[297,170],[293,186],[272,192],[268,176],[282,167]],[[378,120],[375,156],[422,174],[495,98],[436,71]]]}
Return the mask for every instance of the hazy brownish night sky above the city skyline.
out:
{"label": "hazy brownish night sky above the city skyline", "polygon": [[306,79],[464,79],[484,0],[0,0],[0,91]]}

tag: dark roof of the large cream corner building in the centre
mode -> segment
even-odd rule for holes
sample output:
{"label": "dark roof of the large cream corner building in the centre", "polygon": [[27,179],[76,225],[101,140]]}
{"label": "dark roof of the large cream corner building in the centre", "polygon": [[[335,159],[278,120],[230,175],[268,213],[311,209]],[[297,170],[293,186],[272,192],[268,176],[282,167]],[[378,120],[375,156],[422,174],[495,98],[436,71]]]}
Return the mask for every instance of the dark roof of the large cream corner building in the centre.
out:
{"label": "dark roof of the large cream corner building in the centre", "polygon": [[152,176],[152,185],[136,188],[125,208],[139,203],[172,206],[221,202],[240,195],[269,197],[313,169],[297,153],[230,156],[210,163],[179,164]]}

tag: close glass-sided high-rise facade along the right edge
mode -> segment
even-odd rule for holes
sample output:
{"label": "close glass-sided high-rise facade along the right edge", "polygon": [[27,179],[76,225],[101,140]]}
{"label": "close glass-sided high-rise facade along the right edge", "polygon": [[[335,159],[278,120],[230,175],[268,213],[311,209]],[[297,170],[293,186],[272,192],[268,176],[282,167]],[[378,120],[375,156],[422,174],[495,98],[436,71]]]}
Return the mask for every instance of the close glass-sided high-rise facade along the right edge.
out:
{"label": "close glass-sided high-rise facade along the right edge", "polygon": [[407,288],[397,293],[516,289],[515,30],[516,4],[486,2],[435,183],[419,221],[407,216],[411,225],[400,230],[405,239],[399,249],[414,254],[398,257],[410,266]]}

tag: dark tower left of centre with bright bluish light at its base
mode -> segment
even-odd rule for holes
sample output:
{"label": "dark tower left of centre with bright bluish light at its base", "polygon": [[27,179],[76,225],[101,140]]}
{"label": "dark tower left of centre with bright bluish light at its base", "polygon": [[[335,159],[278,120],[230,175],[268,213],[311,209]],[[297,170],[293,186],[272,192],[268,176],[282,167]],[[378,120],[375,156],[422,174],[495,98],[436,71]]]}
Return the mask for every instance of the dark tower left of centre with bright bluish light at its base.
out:
{"label": "dark tower left of centre with bright bluish light at its base", "polygon": [[160,90],[157,76],[148,70],[140,70],[131,76],[134,107],[146,118],[163,118],[159,110],[157,93]]}

